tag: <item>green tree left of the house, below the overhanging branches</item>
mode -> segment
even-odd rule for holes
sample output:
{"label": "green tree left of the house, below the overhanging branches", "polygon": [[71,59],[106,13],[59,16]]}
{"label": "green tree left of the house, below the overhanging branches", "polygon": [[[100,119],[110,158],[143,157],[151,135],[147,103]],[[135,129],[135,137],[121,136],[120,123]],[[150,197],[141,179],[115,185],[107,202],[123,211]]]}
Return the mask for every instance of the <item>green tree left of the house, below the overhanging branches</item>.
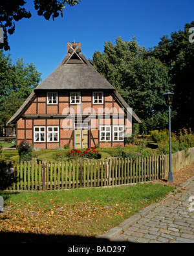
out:
{"label": "green tree left of the house, below the overhanging branches", "polygon": [[41,81],[34,64],[23,59],[12,64],[10,55],[0,51],[0,123],[5,124]]}

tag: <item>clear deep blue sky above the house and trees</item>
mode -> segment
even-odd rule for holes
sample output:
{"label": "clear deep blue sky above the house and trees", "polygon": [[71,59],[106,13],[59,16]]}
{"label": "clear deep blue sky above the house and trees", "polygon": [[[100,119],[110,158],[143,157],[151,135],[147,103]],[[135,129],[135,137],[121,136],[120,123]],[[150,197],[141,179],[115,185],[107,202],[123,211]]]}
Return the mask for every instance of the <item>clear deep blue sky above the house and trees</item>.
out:
{"label": "clear deep blue sky above the house and trees", "polygon": [[105,41],[115,43],[136,37],[138,45],[154,47],[163,35],[184,29],[194,20],[193,0],[81,0],[67,7],[63,18],[49,21],[38,16],[32,0],[26,0],[30,19],[16,22],[15,33],[9,36],[12,60],[23,58],[33,63],[44,80],[67,54],[67,42],[81,42],[81,52],[92,58],[94,51],[103,51]]}

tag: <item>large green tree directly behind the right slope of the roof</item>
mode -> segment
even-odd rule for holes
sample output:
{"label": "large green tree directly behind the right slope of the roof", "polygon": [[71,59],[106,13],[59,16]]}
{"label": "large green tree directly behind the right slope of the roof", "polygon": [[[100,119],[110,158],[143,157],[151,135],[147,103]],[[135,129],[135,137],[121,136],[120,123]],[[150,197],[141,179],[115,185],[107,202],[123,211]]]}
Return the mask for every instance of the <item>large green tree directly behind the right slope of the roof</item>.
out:
{"label": "large green tree directly behind the right slope of the roof", "polygon": [[116,45],[105,42],[104,52],[94,52],[91,62],[144,121],[145,132],[153,128],[153,119],[161,124],[166,111],[162,94],[166,89],[173,89],[169,69],[149,56],[146,49],[136,43],[136,38],[131,41],[116,38]]}

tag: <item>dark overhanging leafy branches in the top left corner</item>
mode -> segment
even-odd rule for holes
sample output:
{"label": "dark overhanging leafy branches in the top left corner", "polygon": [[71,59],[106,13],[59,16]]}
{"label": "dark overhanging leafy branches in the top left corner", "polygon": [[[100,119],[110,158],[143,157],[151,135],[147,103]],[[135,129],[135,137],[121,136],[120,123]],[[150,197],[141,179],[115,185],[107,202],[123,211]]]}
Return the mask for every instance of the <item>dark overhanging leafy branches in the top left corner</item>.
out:
{"label": "dark overhanging leafy branches in the top left corner", "polygon": [[[63,16],[63,9],[66,5],[74,6],[81,0],[34,0],[34,8],[37,10],[39,16],[45,17],[45,19],[54,20],[59,14]],[[32,14],[25,8],[24,0],[6,0],[0,3],[0,27],[4,31],[4,43],[0,44],[0,49],[7,51],[10,49],[8,45],[8,34],[15,32],[15,22],[20,19],[29,19]]]}

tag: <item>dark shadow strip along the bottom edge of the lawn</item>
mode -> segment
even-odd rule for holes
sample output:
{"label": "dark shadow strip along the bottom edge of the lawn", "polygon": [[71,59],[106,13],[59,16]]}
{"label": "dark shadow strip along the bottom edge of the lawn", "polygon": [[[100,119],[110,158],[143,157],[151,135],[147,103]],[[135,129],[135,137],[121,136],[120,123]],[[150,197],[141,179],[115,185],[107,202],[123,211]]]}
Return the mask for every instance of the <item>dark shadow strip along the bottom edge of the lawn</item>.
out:
{"label": "dark shadow strip along the bottom edge of the lawn", "polygon": [[131,244],[131,242],[114,242],[108,239],[96,237],[81,237],[78,235],[44,235],[36,233],[0,232],[1,243],[63,243],[66,247],[82,246],[91,247],[94,245],[120,245]]}

